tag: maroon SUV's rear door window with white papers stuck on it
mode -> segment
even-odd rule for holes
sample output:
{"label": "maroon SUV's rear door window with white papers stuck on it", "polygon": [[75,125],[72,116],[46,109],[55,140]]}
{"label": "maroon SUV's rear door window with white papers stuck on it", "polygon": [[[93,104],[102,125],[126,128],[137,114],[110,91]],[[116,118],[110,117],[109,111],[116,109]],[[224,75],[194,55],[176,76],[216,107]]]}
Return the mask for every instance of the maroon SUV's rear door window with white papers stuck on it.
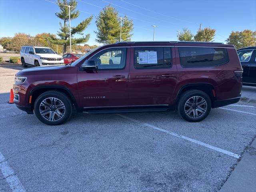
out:
{"label": "maroon SUV's rear door window with white papers stuck on it", "polygon": [[134,67],[136,69],[169,68],[172,66],[170,47],[135,47]]}

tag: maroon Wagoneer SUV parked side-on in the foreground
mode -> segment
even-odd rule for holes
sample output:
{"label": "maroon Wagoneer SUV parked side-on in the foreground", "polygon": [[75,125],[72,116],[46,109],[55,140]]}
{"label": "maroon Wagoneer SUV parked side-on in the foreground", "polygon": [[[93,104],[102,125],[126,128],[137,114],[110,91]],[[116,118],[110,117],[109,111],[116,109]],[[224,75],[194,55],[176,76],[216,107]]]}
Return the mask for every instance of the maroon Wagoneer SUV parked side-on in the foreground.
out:
{"label": "maroon Wagoneer SUV parked side-on in the foreground", "polygon": [[21,70],[14,102],[49,125],[68,120],[73,107],[93,114],[177,109],[198,122],[211,108],[240,100],[242,72],[232,45],[119,42],[66,66]]}

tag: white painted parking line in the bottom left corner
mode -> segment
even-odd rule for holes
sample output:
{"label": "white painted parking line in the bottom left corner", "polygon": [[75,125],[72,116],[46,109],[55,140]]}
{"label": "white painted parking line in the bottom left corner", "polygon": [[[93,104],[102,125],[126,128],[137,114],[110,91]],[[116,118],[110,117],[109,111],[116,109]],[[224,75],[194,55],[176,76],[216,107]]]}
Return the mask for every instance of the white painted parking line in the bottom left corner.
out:
{"label": "white painted parking line in the bottom left corner", "polygon": [[6,181],[8,182],[13,192],[26,192],[20,180],[14,174],[14,171],[12,170],[12,168],[9,166],[8,162],[5,161],[5,158],[1,152],[0,152],[0,170],[2,171],[2,174],[4,175]]}

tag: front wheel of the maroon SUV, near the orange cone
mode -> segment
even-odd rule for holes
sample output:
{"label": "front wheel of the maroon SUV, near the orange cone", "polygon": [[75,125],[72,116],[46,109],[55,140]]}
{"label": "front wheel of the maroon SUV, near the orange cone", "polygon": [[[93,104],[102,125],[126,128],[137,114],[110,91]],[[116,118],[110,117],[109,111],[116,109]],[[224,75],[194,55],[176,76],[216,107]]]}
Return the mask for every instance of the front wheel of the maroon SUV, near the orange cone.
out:
{"label": "front wheel of the maroon SUV, near the orange cone", "polygon": [[[51,98],[55,98],[54,104]],[[44,102],[43,102],[44,101]],[[50,104],[50,102],[51,104]],[[62,102],[62,103],[60,103]],[[60,105],[58,105],[58,103]],[[44,105],[46,104],[46,105]],[[57,108],[62,106],[62,108]],[[48,107],[46,107],[48,106]],[[48,108],[48,109],[47,109]],[[47,111],[46,111],[47,110]],[[55,111],[54,111],[55,110]],[[72,114],[73,106],[70,98],[60,91],[47,91],[38,96],[34,104],[36,117],[48,125],[59,125],[68,120]],[[47,112],[47,113],[46,113]],[[44,116],[41,113],[45,113]],[[53,114],[53,115],[52,115]],[[52,115],[52,116],[51,116]],[[60,118],[61,115],[62,117]],[[56,118],[56,119],[55,119]],[[52,120],[51,120],[52,119]]]}

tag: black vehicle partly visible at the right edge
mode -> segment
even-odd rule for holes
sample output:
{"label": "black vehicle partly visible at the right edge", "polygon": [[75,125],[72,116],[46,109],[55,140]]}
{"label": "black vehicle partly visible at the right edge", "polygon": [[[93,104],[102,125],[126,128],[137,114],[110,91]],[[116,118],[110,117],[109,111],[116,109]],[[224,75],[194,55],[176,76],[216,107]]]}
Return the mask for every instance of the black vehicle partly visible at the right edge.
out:
{"label": "black vehicle partly visible at the right edge", "polygon": [[237,50],[243,72],[243,85],[256,86],[256,46]]}

